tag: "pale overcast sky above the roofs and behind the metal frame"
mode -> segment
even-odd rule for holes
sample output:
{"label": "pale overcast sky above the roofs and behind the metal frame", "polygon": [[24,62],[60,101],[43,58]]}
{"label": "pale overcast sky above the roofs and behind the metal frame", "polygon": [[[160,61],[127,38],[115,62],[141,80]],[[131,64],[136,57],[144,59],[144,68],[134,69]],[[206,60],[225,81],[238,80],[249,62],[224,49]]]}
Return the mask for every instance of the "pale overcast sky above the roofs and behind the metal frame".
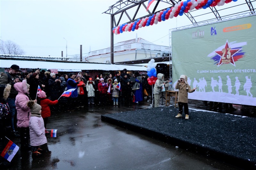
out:
{"label": "pale overcast sky above the roofs and behind the metal frame", "polygon": [[[110,15],[102,14],[117,0],[0,0],[0,39],[12,40],[26,55],[66,56],[108,48],[110,46]],[[156,1],[149,10],[152,11]],[[159,8],[169,5],[160,2]],[[160,10],[160,9],[159,9]],[[147,15],[146,9],[138,17]],[[126,21],[122,21],[123,24]],[[114,35],[114,43],[138,38],[157,45],[169,46],[169,29],[190,25],[188,18],[178,16],[142,27],[134,32]],[[63,39],[65,38],[65,39]]]}

